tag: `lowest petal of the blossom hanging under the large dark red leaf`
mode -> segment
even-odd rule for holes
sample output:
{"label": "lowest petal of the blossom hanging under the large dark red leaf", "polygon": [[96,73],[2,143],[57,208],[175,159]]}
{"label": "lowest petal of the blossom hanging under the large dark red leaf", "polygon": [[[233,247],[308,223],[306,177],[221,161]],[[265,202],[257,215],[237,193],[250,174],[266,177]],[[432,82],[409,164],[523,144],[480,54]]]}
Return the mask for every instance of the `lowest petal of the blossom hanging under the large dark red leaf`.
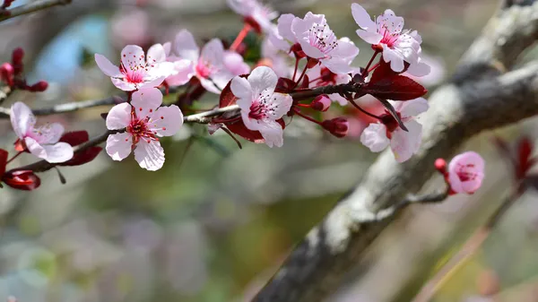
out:
{"label": "lowest petal of the blossom hanging under the large dark red leaf", "polygon": [[401,128],[397,128],[390,139],[390,148],[395,153],[397,162],[411,159],[421,146],[422,125],[414,120],[406,122],[404,125],[409,131],[405,132]]}

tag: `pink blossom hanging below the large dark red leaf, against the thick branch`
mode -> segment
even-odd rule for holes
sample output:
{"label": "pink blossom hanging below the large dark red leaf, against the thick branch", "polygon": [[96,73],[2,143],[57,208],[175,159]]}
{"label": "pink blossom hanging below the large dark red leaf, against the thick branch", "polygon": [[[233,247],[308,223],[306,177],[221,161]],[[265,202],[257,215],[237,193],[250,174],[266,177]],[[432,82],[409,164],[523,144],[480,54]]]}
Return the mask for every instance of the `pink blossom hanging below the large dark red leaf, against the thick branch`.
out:
{"label": "pink blossom hanging below the large dark red leaf, against the thick branch", "polygon": [[414,120],[414,116],[428,110],[428,101],[423,98],[407,101],[390,101],[398,116],[409,131],[398,126],[395,118],[386,113],[381,121],[370,124],[362,134],[360,142],[372,152],[383,151],[389,144],[398,162],[409,160],[419,150],[422,137],[422,125]]}

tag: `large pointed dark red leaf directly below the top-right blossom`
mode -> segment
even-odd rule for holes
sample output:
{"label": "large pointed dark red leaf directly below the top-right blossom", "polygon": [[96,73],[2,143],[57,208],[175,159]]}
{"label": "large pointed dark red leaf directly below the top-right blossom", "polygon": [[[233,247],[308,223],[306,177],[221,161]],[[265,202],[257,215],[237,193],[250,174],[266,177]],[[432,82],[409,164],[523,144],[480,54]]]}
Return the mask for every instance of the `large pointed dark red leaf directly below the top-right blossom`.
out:
{"label": "large pointed dark red leaf directly below the top-right blossom", "polygon": [[393,75],[378,79],[376,82],[370,81],[363,91],[376,98],[394,100],[417,99],[428,92],[421,84],[404,75]]}

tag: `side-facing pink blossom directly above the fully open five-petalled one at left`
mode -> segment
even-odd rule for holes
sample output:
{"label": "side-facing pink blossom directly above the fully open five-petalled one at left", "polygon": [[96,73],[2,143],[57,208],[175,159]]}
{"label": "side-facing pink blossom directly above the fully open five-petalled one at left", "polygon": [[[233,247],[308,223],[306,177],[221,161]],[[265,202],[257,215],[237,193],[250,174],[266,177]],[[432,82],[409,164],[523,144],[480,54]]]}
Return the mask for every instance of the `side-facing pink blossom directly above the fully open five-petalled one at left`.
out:
{"label": "side-facing pink blossom directly above the fully open five-petalled one at left", "polygon": [[112,83],[122,91],[157,87],[174,70],[173,64],[166,62],[166,53],[161,44],[150,47],[147,57],[142,47],[127,45],[121,51],[119,67],[100,54],[95,54],[95,62],[100,70],[110,77]]}

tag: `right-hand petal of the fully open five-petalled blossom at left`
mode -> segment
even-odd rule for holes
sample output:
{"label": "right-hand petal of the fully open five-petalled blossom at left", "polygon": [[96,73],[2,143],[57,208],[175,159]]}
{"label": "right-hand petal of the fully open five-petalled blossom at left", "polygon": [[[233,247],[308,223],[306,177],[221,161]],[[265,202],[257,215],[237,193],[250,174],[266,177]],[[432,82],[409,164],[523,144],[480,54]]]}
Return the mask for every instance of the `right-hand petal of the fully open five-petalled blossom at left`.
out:
{"label": "right-hand petal of the fully open five-petalled blossom at left", "polygon": [[183,113],[176,105],[158,108],[150,115],[148,125],[159,136],[174,135],[183,125]]}

